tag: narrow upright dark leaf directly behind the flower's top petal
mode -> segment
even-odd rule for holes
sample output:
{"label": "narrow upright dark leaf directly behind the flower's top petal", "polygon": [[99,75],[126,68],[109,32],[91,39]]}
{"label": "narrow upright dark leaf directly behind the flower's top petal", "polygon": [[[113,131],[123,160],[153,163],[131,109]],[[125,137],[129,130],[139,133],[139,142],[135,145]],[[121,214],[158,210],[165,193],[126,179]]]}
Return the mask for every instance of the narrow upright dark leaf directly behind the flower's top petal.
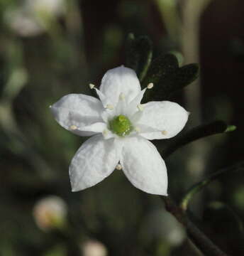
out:
{"label": "narrow upright dark leaf directly behind the flower's top petal", "polygon": [[128,34],[126,42],[126,66],[135,70],[140,81],[148,71],[153,56],[153,46],[147,36],[135,38]]}

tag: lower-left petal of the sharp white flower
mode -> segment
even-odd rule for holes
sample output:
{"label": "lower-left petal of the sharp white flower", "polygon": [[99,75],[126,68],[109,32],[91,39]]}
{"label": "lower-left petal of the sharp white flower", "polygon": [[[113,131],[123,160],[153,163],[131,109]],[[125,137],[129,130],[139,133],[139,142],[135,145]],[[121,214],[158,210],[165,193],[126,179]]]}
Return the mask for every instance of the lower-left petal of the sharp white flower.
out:
{"label": "lower-left petal of the sharp white flower", "polygon": [[113,172],[120,158],[113,141],[98,134],[82,144],[70,164],[72,191],[94,186]]}

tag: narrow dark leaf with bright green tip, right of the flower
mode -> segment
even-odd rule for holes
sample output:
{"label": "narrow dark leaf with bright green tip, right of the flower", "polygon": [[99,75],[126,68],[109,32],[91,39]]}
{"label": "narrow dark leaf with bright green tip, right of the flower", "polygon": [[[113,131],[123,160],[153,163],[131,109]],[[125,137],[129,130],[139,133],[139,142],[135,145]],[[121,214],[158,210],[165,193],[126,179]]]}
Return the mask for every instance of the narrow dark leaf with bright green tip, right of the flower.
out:
{"label": "narrow dark leaf with bright green tip, right of the flower", "polygon": [[167,144],[164,151],[162,151],[162,156],[166,158],[180,147],[194,142],[196,139],[201,139],[223,132],[231,132],[231,130],[234,130],[230,127],[233,126],[228,126],[226,122],[223,121],[214,121],[210,124],[203,124],[199,125],[198,127],[194,127],[185,133],[179,134],[176,139],[172,140],[172,142]]}

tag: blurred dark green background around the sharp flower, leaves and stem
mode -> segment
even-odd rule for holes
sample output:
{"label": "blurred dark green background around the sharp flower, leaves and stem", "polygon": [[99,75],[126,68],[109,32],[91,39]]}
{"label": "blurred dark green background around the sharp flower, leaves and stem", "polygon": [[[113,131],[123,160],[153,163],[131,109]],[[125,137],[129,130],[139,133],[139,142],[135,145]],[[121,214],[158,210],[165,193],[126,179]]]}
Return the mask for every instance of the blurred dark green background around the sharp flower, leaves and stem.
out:
{"label": "blurred dark green background around the sharp flower, leaves and stem", "polygon": [[[241,0],[0,0],[0,255],[201,255],[160,198],[121,171],[72,193],[69,163],[86,138],[62,129],[48,107],[68,93],[91,95],[89,82],[99,86],[125,63],[131,32],[150,37],[153,58],[173,51],[182,64],[199,63],[199,80],[170,99],[191,112],[185,129],[214,119],[238,129],[167,159],[179,199],[243,159],[243,10]],[[243,178],[226,174],[190,205],[230,255],[243,255]]]}

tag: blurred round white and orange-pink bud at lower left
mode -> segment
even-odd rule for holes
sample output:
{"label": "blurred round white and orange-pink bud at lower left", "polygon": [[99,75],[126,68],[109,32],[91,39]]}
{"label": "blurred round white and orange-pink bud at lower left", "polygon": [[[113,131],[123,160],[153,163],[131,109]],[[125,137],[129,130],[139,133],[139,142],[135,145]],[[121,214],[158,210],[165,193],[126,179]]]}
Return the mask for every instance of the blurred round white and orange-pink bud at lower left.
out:
{"label": "blurred round white and orange-pink bud at lower left", "polygon": [[48,196],[35,204],[33,215],[41,230],[62,228],[65,225],[67,205],[58,196]]}

